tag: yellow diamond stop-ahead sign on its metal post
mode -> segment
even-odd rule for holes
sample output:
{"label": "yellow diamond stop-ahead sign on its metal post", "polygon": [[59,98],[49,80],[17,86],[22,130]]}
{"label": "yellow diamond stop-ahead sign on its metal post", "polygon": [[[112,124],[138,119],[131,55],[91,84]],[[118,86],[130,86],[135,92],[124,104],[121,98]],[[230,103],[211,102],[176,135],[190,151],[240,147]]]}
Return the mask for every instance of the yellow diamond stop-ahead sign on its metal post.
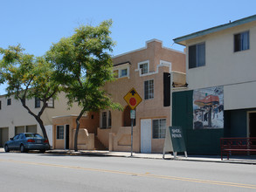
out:
{"label": "yellow diamond stop-ahead sign on its metal post", "polygon": [[142,102],[141,96],[135,91],[135,88],[132,88],[124,97],[125,101],[128,103],[130,108],[130,119],[131,119],[131,156],[133,156],[133,129],[134,129],[134,120],[135,120],[135,108]]}

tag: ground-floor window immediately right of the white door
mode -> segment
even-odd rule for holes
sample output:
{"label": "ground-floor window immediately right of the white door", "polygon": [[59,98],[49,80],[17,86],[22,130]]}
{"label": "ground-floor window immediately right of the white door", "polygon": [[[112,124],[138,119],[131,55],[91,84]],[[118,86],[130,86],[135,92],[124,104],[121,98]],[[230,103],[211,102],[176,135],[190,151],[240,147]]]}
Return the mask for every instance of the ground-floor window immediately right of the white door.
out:
{"label": "ground-floor window immediately right of the white door", "polygon": [[165,138],[166,119],[153,120],[153,139]]}

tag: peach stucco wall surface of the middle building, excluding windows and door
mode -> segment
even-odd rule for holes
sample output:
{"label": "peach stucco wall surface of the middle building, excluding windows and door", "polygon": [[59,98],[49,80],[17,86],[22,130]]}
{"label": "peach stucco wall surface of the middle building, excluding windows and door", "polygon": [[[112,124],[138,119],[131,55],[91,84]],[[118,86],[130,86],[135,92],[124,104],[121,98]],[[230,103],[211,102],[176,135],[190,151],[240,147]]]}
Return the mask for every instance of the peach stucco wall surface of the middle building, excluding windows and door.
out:
{"label": "peach stucco wall surface of the middle building, excluding windows and door", "polygon": [[[166,125],[170,126],[170,106],[163,106],[163,72],[174,72],[176,81],[185,82],[185,55],[183,52],[164,48],[162,42],[152,40],[147,42],[145,48],[131,51],[113,58],[114,65],[129,62],[129,76],[116,79],[107,83],[105,89],[115,102],[121,103],[124,108],[128,105],[123,97],[135,88],[142,97],[142,102],[136,107],[136,126],[134,127],[134,151],[141,152],[141,120],[142,119],[166,119]],[[138,63],[149,61],[149,73],[141,74]],[[118,68],[118,67],[117,67]],[[154,99],[144,99],[144,81],[154,79]],[[113,150],[130,150],[130,129],[123,127],[123,112],[111,111],[112,127],[109,133],[113,133],[111,142]],[[152,129],[152,127],[151,127]],[[152,130],[151,130],[152,131]],[[99,133],[99,131],[98,131]],[[152,139],[152,153],[163,152],[163,139]]]}

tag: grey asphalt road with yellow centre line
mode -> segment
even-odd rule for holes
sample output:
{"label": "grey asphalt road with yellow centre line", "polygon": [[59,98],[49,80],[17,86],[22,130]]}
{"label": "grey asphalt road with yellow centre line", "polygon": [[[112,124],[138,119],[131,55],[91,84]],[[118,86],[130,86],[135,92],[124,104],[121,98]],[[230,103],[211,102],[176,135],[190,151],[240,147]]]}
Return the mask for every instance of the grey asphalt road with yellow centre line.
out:
{"label": "grey asphalt road with yellow centre line", "polygon": [[0,153],[0,191],[256,191],[255,165]]}

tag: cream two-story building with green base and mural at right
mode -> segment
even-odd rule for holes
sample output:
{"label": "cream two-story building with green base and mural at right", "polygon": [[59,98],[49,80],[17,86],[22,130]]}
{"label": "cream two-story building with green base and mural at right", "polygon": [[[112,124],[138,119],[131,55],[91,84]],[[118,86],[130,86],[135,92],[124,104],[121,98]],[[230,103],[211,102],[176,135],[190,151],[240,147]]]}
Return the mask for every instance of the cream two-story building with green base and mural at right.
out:
{"label": "cream two-story building with green base and mural at right", "polygon": [[220,137],[256,137],[256,15],[174,42],[186,46],[188,89],[174,93],[173,123],[188,152],[218,154]]}

